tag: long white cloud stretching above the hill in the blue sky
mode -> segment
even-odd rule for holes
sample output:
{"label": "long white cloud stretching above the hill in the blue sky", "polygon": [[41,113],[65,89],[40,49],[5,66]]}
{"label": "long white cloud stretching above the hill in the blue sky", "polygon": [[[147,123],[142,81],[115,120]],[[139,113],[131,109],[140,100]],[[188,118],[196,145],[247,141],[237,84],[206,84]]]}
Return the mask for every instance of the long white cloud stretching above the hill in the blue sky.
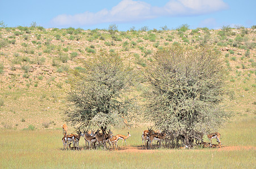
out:
{"label": "long white cloud stretching above the hill in the blue sky", "polygon": [[227,8],[223,0],[171,0],[163,7],[151,6],[143,1],[123,0],[111,10],[84,12],[83,14],[62,14],[54,17],[53,25],[93,25],[100,23],[122,23],[140,21],[160,16],[191,16],[208,14]]}

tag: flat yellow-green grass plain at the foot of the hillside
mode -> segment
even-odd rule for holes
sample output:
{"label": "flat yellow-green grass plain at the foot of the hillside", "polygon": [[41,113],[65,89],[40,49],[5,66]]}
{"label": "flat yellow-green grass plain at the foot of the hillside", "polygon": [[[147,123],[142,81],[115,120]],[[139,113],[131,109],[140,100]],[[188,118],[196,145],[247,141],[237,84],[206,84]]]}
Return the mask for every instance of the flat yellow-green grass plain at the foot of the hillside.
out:
{"label": "flat yellow-green grass plain at the foot of the hillside", "polygon": [[[122,150],[63,150],[62,131],[1,130],[1,168],[254,168],[255,119],[231,122],[221,129],[224,146],[244,145],[237,149],[156,149],[140,152]],[[248,130],[248,128],[250,128]],[[141,145],[143,128],[130,129],[127,144]],[[127,130],[114,131],[127,134]],[[28,139],[29,138],[29,139]],[[119,142],[119,145],[121,142]],[[84,146],[84,139],[79,145]]]}

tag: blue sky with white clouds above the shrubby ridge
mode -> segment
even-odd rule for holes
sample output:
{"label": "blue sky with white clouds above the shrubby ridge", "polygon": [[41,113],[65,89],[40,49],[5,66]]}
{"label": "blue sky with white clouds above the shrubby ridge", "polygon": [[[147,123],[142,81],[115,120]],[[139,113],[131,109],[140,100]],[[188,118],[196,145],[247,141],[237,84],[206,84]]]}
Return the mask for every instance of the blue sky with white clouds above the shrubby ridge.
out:
{"label": "blue sky with white clouds above the shrubby ridge", "polygon": [[136,30],[143,26],[175,29],[182,24],[190,29],[256,25],[256,0],[0,0],[0,21],[8,27]]}

